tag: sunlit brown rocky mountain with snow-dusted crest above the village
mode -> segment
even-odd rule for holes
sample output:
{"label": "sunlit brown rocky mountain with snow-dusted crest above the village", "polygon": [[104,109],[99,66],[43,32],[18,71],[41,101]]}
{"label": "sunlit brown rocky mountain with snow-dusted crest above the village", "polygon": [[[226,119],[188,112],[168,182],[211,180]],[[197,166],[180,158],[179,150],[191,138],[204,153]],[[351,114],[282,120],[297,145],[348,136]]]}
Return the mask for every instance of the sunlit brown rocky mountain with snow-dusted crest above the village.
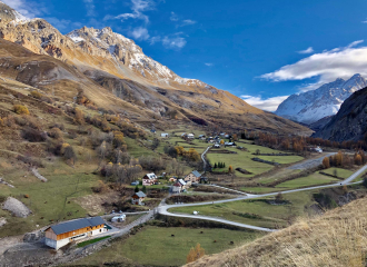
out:
{"label": "sunlit brown rocky mountain with snow-dusted crest above the village", "polygon": [[27,19],[2,2],[0,18],[0,75],[44,93],[73,101],[82,92],[98,107],[129,113],[147,126],[175,113],[180,120],[200,118],[216,126],[309,132],[227,91],[177,76],[110,28],[83,27],[65,36],[46,20]]}

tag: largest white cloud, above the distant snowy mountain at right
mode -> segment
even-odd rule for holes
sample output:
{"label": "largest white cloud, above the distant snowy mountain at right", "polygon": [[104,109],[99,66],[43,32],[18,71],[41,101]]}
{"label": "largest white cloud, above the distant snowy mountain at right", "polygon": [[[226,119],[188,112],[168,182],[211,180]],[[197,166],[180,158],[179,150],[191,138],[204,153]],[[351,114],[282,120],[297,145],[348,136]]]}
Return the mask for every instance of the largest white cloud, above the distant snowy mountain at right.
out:
{"label": "largest white cloud, above the distant snowy mountain at right", "polygon": [[334,81],[337,78],[348,79],[355,73],[367,76],[367,47],[356,47],[363,40],[354,41],[347,47],[315,53],[287,65],[280,69],[260,76],[272,81],[304,80],[318,77],[316,83],[307,85],[301,90],[310,90],[317,86]]}

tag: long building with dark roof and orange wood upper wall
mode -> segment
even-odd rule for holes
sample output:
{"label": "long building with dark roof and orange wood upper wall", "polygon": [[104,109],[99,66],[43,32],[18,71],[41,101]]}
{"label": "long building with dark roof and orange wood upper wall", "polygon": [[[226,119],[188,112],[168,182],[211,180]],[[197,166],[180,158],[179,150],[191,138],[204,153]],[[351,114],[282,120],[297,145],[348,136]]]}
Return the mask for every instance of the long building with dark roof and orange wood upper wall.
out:
{"label": "long building with dark roof and orange wood upper wall", "polygon": [[58,250],[69,243],[106,233],[101,217],[82,218],[50,226],[44,230],[44,244]]}

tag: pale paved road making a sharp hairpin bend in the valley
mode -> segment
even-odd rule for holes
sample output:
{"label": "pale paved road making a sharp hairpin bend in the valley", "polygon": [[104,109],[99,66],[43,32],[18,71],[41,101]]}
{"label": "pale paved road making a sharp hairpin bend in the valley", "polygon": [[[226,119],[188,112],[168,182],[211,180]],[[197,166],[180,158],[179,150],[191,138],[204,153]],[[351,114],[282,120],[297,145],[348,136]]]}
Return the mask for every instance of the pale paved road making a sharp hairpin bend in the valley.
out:
{"label": "pale paved road making a sharp hairpin bend in the valley", "polygon": [[[315,187],[307,187],[307,188],[299,188],[299,189],[292,189],[292,190],[286,190],[286,191],[280,191],[281,194],[290,194],[290,192],[298,192],[298,191],[306,191],[306,190],[314,190],[314,189],[323,189],[323,188],[330,188],[330,187],[339,187],[341,185],[355,185],[355,184],[361,184],[361,181],[353,182],[354,179],[356,179],[360,174],[363,174],[365,170],[367,170],[367,165],[360,168],[358,171],[353,174],[350,177],[345,179],[341,182],[338,184],[331,184],[331,185],[325,185],[325,186],[315,186]],[[221,219],[221,218],[214,218],[209,216],[198,216],[198,215],[182,215],[182,214],[172,214],[168,211],[170,208],[177,208],[177,207],[195,207],[195,206],[202,206],[202,205],[214,205],[214,204],[224,204],[224,202],[231,202],[231,201],[238,201],[238,200],[245,200],[245,199],[254,199],[254,198],[264,198],[264,197],[270,197],[270,196],[276,196],[279,192],[269,192],[269,194],[262,194],[262,195],[246,195],[242,197],[237,197],[237,198],[231,198],[231,199],[224,199],[224,200],[217,200],[217,201],[207,201],[207,202],[196,202],[196,204],[180,204],[180,205],[160,205],[157,208],[157,211],[161,215],[166,216],[172,216],[172,217],[182,217],[182,218],[196,218],[196,219],[205,219],[205,220],[212,220],[212,221],[218,221],[222,224],[228,224],[228,225],[236,225],[238,227],[244,227],[244,228],[249,228],[249,229],[257,229],[257,230],[264,230],[264,231],[274,231],[275,229],[268,229],[268,228],[261,228],[261,227],[255,227],[251,225],[245,225],[245,224],[239,224],[239,222],[234,222],[230,220]],[[194,211],[194,209],[192,209]]]}

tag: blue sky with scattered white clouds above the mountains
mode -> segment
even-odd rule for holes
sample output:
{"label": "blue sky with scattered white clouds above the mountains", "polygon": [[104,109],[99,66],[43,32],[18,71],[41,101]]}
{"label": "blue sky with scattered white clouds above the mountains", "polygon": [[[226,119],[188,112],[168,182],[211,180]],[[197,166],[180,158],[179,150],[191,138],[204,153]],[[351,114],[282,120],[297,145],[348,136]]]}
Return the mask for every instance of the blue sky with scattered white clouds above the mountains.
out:
{"label": "blue sky with scattered white clouds above the mountains", "polygon": [[2,1],[61,33],[111,27],[180,77],[268,111],[336,78],[367,78],[366,0]]}

